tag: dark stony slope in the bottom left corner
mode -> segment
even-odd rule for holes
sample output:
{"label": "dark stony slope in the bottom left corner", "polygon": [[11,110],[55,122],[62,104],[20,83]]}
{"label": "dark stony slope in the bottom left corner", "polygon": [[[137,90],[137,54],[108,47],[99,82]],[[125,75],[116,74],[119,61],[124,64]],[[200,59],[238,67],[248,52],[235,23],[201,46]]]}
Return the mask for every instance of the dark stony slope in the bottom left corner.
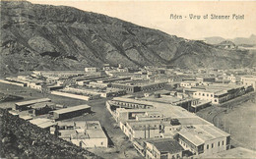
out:
{"label": "dark stony slope in the bottom left corner", "polygon": [[0,158],[99,158],[0,109]]}

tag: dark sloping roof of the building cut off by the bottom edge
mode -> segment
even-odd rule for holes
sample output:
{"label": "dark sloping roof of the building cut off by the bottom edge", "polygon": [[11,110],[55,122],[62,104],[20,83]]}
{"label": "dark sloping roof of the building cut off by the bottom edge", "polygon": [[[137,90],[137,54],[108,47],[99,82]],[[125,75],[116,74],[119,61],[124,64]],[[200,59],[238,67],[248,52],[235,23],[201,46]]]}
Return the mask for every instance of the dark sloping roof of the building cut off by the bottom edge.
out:
{"label": "dark sloping roof of the building cut off by the bottom edge", "polygon": [[183,151],[183,147],[172,138],[149,139],[146,142],[152,143],[160,152],[169,152],[170,154]]}

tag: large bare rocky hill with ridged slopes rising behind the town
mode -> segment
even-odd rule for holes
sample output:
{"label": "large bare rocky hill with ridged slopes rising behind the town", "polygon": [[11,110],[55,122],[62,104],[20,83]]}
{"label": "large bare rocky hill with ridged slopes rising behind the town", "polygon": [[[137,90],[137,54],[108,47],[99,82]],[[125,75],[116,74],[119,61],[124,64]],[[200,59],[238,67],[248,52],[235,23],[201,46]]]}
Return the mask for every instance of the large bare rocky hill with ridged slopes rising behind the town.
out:
{"label": "large bare rocky hill with ridged slopes rising behind the town", "polygon": [[83,70],[104,63],[180,68],[255,65],[254,54],[224,50],[71,7],[1,1],[0,72]]}

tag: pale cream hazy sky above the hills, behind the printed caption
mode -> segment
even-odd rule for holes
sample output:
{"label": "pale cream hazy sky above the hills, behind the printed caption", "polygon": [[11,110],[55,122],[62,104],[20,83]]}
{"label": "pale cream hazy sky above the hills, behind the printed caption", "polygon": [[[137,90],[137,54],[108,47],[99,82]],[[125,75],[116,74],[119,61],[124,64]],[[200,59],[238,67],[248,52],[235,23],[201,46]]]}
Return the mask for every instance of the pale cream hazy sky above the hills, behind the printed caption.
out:
{"label": "pale cream hazy sky above the hills, behind the printed caption", "polygon": [[[166,33],[189,39],[208,36],[222,36],[224,38],[248,37],[252,33],[256,34],[256,1],[29,1],[38,4],[72,6],[84,11],[119,18],[139,26],[157,28]],[[180,15],[182,19],[170,19],[170,14]],[[190,14],[199,15],[201,19],[190,20]],[[208,19],[203,19],[203,16],[207,14]],[[229,16],[229,19],[212,20],[211,14]],[[244,19],[233,20],[233,14],[244,15]]]}

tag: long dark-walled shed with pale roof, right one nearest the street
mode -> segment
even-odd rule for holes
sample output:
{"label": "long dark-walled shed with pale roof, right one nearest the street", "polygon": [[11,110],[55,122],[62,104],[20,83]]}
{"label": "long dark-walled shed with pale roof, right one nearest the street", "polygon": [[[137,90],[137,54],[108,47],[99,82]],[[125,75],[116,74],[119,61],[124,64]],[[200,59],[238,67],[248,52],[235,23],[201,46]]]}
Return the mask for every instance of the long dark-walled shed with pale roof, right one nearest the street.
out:
{"label": "long dark-walled shed with pale roof, right one nearest the street", "polygon": [[84,113],[90,113],[91,106],[84,104],[78,105],[74,107],[63,108],[55,111],[51,111],[50,115],[52,115],[52,119],[54,120],[64,120],[77,116],[81,116]]}

